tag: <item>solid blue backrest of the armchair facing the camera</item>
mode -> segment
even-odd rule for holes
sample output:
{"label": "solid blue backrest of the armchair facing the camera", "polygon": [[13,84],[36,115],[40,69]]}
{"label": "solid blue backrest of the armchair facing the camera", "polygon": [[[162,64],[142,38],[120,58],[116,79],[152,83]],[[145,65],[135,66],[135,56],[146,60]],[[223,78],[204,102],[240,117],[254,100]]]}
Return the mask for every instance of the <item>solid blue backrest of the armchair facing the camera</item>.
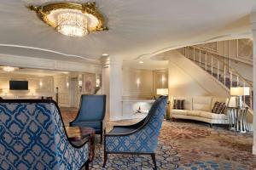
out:
{"label": "solid blue backrest of the armchair facing the camera", "polygon": [[83,94],[76,121],[102,121],[105,117],[106,95]]}

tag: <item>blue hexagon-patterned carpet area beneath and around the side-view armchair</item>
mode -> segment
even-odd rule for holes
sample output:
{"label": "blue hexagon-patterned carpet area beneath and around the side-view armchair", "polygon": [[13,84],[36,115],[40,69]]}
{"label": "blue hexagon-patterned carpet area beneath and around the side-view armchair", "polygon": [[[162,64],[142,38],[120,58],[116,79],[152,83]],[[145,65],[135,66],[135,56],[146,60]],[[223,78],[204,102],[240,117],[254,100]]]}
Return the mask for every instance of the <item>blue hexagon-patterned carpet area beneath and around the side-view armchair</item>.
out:
{"label": "blue hexagon-patterned carpet area beneath and around the side-view armchair", "polygon": [[[177,162],[179,156],[177,151],[172,149],[172,146],[164,143],[159,143],[156,150],[156,164],[159,169],[177,169]],[[154,165],[151,156],[132,156],[132,155],[115,155],[110,154],[105,168],[102,168],[103,164],[103,146],[96,145],[96,156],[90,165],[92,170],[100,169],[124,169],[124,170],[143,170],[153,169]]]}

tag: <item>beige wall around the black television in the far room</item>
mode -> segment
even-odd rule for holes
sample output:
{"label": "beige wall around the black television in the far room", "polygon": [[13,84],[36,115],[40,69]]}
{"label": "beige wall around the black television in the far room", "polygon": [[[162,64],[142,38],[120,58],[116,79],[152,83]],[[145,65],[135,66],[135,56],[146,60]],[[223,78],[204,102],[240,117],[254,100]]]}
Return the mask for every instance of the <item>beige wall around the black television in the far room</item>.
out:
{"label": "beige wall around the black television in the far room", "polygon": [[[9,90],[10,80],[28,81],[27,91]],[[41,82],[41,85],[40,84]],[[1,73],[0,95],[3,98],[39,98],[41,96],[55,96],[53,77],[38,77],[32,75]]]}

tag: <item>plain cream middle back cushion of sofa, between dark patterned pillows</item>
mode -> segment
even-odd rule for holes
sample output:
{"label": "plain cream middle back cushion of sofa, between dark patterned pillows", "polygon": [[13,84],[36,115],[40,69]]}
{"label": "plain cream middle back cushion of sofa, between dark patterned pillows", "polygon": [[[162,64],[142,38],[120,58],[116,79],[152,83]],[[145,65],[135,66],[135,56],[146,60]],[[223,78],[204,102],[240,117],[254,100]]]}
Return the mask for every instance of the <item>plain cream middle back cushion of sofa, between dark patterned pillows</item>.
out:
{"label": "plain cream middle back cushion of sofa, between dark patterned pillows", "polygon": [[196,96],[193,97],[193,110],[194,111],[211,111],[212,110],[212,97]]}

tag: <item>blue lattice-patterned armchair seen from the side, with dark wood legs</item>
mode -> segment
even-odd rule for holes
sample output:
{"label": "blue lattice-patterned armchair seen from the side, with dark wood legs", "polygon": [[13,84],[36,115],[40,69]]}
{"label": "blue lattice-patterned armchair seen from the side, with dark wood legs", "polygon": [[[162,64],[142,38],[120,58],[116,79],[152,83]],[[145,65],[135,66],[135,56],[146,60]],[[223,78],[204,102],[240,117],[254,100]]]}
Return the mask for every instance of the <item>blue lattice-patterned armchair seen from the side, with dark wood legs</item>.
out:
{"label": "blue lattice-patterned armchair seen from the side, with dark wood legs", "polygon": [[166,96],[156,99],[143,121],[131,126],[114,126],[112,131],[105,134],[103,167],[108,154],[144,154],[152,156],[156,169],[154,151],[166,112],[166,100]]}

